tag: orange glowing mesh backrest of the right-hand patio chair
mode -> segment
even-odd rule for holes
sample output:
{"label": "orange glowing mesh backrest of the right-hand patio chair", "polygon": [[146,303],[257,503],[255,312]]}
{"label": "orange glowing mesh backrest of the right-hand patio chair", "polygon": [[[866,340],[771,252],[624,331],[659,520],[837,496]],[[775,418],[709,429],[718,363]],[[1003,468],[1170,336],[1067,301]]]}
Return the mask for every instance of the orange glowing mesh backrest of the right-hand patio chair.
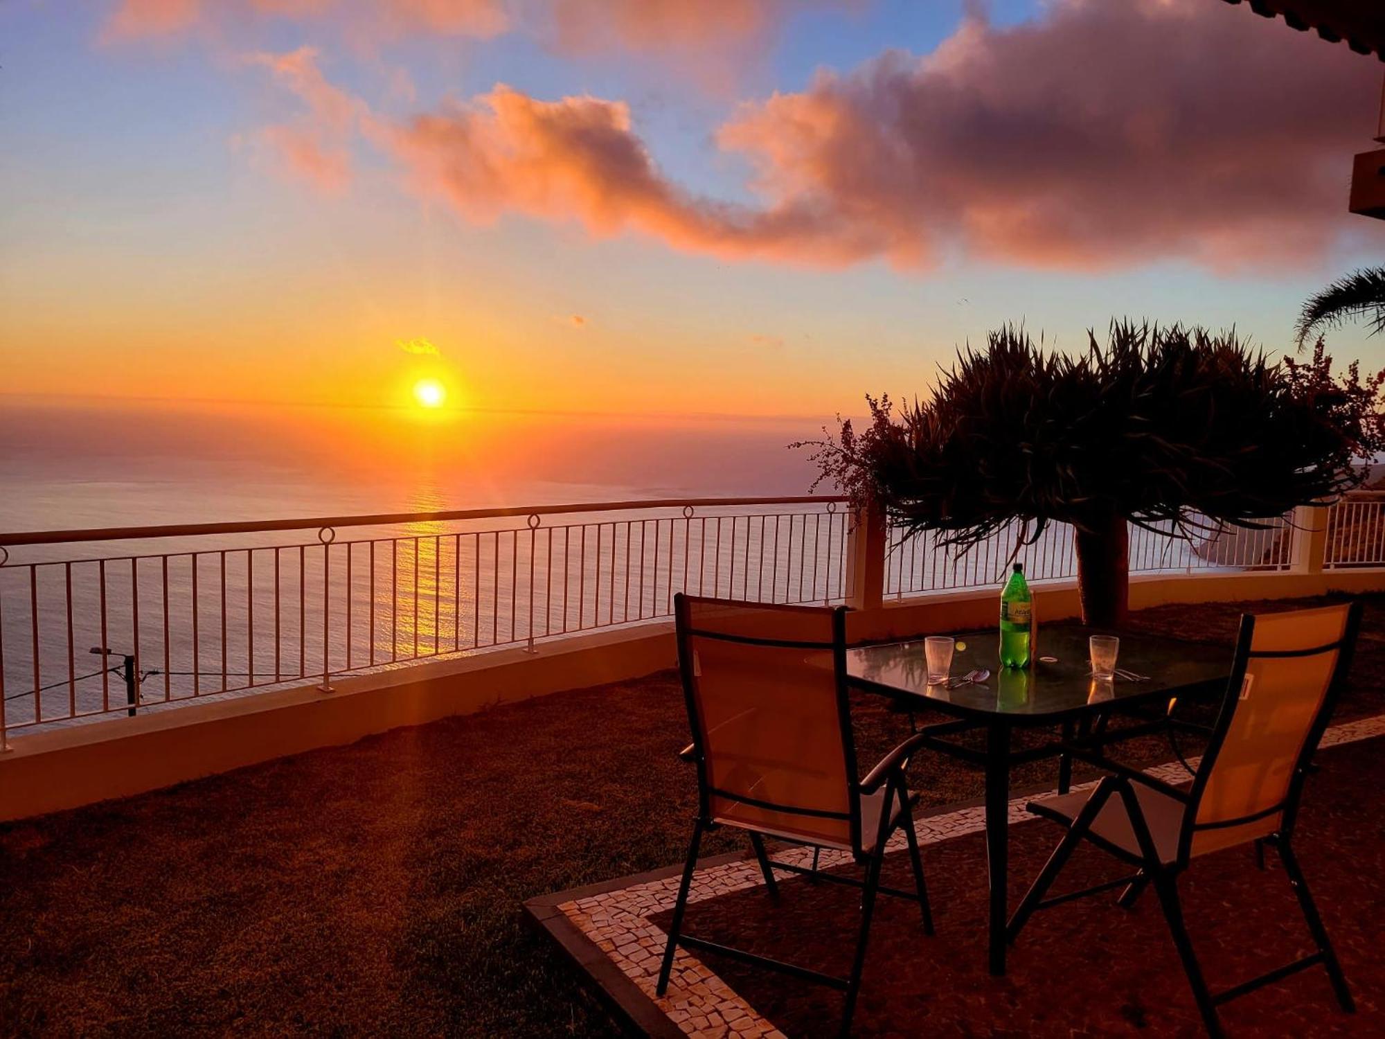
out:
{"label": "orange glowing mesh backrest of the right-hand patio chair", "polygon": [[1192,781],[1181,860],[1292,827],[1360,614],[1350,603],[1241,618],[1226,700]]}

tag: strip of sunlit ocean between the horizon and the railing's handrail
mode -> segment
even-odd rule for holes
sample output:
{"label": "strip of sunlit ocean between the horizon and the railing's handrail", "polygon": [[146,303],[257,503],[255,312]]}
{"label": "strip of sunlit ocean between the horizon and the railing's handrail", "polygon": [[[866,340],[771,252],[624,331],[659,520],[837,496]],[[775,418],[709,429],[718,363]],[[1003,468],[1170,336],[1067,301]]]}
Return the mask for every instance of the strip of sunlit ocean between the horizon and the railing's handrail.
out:
{"label": "strip of sunlit ocean between the horizon and the railing's handrail", "polygon": [[805,495],[824,421],[0,398],[0,531]]}

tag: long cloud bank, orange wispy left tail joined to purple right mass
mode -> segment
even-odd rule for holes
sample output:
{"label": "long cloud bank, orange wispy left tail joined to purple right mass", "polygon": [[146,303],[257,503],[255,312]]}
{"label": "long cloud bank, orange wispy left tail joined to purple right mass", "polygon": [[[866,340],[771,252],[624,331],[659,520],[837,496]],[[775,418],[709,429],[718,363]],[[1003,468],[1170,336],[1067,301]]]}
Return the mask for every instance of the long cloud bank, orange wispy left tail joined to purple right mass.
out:
{"label": "long cloud bank, orange wispy left tail joined to purple right mass", "polygon": [[727,202],[661,170],[619,101],[497,86],[384,123],[310,53],[266,64],[314,125],[355,122],[421,197],[471,222],[522,213],[726,259],[899,267],[1312,262],[1349,219],[1379,75],[1206,0],[1055,0],[1036,21],[972,18],[929,55],[886,53],[742,105],[717,144],[748,161],[753,201]]}

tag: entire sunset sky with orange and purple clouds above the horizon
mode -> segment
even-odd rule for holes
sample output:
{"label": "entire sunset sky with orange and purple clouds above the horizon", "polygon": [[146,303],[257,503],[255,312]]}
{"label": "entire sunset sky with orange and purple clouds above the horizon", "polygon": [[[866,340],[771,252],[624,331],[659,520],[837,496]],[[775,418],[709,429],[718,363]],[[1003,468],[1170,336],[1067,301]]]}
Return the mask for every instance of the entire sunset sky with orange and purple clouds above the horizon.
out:
{"label": "entire sunset sky with orange and purple clouds above the horizon", "polygon": [[821,416],[1007,320],[1283,349],[1381,259],[1381,75],[1217,0],[0,0],[0,392]]}

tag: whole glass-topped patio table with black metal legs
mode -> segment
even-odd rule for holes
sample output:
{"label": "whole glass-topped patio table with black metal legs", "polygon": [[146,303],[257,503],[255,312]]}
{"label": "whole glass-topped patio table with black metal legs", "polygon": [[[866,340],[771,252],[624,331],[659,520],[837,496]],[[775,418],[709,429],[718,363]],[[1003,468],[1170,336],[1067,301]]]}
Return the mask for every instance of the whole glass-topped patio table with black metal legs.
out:
{"label": "whole glass-topped patio table with black metal legs", "polygon": [[[951,675],[960,677],[972,669],[989,668],[990,677],[951,690],[928,684],[921,637],[846,652],[852,687],[891,697],[904,708],[953,715],[957,720],[929,726],[938,738],[928,745],[985,766],[992,974],[1006,973],[1010,770],[1019,763],[1062,755],[1062,745],[1057,741],[1015,751],[1011,747],[1012,731],[1057,726],[1071,740],[1079,727],[1087,733],[1094,720],[1115,711],[1168,704],[1174,697],[1208,697],[1226,689],[1231,669],[1230,648],[1148,634],[1120,633],[1116,661],[1122,669],[1150,676],[1147,682],[1094,679],[1087,636],[1097,633],[1076,623],[1044,625],[1039,629],[1036,644],[1040,659],[1032,668],[1018,671],[1000,666],[1000,634],[996,629],[958,634]],[[983,751],[942,738],[971,730],[985,730]],[[1130,730],[1123,730],[1120,737],[1127,738],[1129,734]],[[1064,758],[1060,791],[1066,791],[1069,779],[1071,761]]]}

